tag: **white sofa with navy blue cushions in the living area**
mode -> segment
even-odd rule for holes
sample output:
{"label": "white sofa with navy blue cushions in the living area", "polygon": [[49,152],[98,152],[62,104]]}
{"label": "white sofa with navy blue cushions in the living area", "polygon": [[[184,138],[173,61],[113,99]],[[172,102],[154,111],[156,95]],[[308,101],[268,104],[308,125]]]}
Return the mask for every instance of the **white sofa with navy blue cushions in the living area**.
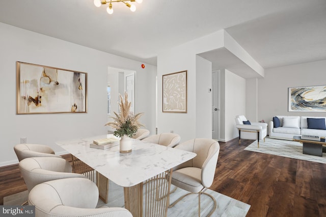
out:
{"label": "white sofa with navy blue cushions in the living area", "polygon": [[275,116],[269,123],[269,138],[292,140],[294,135],[326,137],[326,117]]}

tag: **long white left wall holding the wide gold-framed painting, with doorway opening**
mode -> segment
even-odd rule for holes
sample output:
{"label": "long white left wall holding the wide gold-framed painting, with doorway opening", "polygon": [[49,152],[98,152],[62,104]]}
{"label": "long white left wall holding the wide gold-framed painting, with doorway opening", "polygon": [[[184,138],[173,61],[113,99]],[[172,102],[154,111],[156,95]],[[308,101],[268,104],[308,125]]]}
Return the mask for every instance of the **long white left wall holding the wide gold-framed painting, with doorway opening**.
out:
{"label": "long white left wall holding the wide gold-framed painting, with doorway opening", "polygon": [[[26,137],[28,143],[49,145],[57,153],[64,150],[58,140],[84,138],[107,132],[107,67],[137,71],[137,112],[141,122],[155,131],[156,67],[40,35],[0,23],[0,166],[18,162],[13,147]],[[16,115],[16,61],[88,73],[88,113]],[[139,88],[138,88],[139,87]]]}

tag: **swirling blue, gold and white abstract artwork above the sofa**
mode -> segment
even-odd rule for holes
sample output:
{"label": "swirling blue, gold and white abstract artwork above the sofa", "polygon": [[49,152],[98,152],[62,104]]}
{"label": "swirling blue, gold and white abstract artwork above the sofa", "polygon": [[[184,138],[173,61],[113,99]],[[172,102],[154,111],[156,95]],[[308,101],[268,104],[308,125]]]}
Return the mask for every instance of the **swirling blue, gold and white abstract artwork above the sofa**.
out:
{"label": "swirling blue, gold and white abstract artwork above the sofa", "polygon": [[326,85],[289,88],[289,112],[326,112]]}

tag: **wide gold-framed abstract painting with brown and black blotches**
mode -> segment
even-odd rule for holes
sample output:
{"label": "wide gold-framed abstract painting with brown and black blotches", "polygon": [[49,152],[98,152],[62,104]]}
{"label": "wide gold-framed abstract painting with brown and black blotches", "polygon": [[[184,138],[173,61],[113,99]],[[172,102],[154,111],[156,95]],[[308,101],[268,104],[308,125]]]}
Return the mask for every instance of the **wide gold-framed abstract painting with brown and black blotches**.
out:
{"label": "wide gold-framed abstract painting with brown and black blotches", "polygon": [[16,62],[17,114],[87,113],[87,73]]}

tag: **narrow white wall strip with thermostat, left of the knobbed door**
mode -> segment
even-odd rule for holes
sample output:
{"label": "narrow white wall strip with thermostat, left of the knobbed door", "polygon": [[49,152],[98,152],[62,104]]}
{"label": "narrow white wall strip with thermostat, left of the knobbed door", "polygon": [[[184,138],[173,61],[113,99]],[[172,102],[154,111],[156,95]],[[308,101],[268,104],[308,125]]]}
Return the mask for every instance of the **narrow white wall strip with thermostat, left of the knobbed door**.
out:
{"label": "narrow white wall strip with thermostat, left of the knobbed door", "polygon": [[212,63],[196,56],[196,138],[212,138]]}

